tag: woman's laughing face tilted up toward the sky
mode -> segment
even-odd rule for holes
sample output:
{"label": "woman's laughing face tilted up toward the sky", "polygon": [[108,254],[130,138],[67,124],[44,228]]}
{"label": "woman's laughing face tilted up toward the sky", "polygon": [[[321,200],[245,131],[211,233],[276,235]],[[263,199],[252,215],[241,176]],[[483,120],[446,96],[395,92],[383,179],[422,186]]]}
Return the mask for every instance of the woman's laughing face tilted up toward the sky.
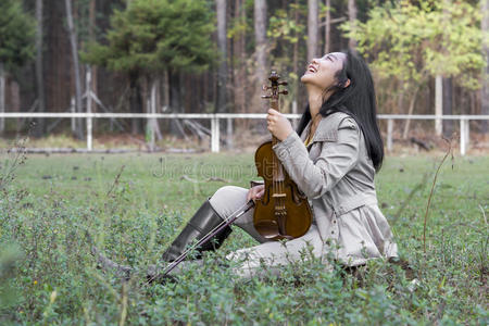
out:
{"label": "woman's laughing face tilted up toward the sky", "polygon": [[302,75],[301,82],[319,89],[328,88],[337,83],[335,75],[342,70],[346,60],[347,54],[343,52],[331,52],[319,59],[314,58]]}

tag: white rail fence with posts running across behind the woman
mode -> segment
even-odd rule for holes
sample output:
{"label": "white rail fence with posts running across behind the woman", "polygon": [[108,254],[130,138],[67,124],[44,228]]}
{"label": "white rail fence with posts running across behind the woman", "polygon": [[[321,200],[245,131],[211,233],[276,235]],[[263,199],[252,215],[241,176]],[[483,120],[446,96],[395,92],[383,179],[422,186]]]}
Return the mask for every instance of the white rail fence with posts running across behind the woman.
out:
{"label": "white rail fence with posts running across behind the woman", "polygon": [[[288,118],[300,118],[301,114],[284,114]],[[34,113],[34,112],[0,112],[0,118],[14,117],[45,117],[45,118],[86,118],[87,123],[87,150],[92,150],[92,120],[93,118],[210,118],[211,120],[211,151],[220,151],[220,120],[226,118],[227,131],[233,133],[233,118],[265,118],[265,113]],[[387,150],[392,149],[392,131],[394,120],[432,120],[440,123],[442,120],[460,122],[460,153],[465,155],[469,145],[469,121],[489,121],[489,115],[405,115],[405,114],[378,114],[379,120],[387,120]],[[230,136],[230,135],[229,135]]]}

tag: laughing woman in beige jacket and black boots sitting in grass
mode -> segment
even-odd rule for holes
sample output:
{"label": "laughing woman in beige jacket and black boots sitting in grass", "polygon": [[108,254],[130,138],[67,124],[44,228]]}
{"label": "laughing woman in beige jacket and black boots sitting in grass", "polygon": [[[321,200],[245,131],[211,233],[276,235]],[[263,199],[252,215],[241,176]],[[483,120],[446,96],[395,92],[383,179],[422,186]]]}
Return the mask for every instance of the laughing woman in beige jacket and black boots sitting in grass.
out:
{"label": "laughing woman in beige jacket and black boots sitting in grass", "polygon": [[[280,265],[299,260],[308,246],[329,267],[326,258],[331,254],[347,266],[398,255],[389,224],[377,205],[374,176],[383,163],[384,146],[367,65],[350,51],[328,53],[312,60],[301,82],[308,89],[309,104],[297,133],[273,109],[268,110],[266,120],[268,130],[280,140],[273,150],[308,197],[313,223],[304,236],[281,243],[268,241],[254,229],[253,209],[241,215],[235,225],[260,242],[227,255],[229,260],[243,262],[236,273],[244,277],[262,271],[262,263],[271,267],[268,271],[279,272]],[[260,200],[263,193],[263,184],[250,189],[220,188],[202,203],[162,259],[176,260],[190,243],[209,234],[250,199]],[[197,258],[203,251],[217,249],[230,231],[227,227],[198,249]],[[99,262],[113,266],[102,255]],[[130,268],[122,266],[120,271],[124,274]],[[178,268],[175,271],[178,273]],[[158,277],[158,271],[149,275]]]}

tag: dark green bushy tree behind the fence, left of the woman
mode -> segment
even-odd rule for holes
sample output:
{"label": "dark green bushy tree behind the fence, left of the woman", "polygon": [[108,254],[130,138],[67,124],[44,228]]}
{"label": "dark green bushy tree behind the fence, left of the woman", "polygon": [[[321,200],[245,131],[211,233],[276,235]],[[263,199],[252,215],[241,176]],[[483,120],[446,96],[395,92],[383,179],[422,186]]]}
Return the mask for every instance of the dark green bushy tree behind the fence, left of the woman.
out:
{"label": "dark green bushy tree behind the fence, left of the woman", "polygon": [[[90,42],[82,60],[127,74],[131,112],[142,112],[147,91],[142,93],[141,88],[154,85],[167,72],[171,109],[179,112],[180,73],[203,72],[218,60],[210,38],[215,29],[210,5],[204,0],[128,1],[125,10],[115,10],[111,17],[108,45]],[[171,131],[179,130],[173,121]]]}

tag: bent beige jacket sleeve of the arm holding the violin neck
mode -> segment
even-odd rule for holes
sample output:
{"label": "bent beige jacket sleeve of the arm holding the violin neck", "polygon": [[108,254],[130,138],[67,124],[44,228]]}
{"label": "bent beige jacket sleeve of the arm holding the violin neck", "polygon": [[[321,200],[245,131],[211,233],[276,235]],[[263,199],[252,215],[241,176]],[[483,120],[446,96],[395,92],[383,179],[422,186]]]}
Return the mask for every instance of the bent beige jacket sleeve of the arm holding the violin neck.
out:
{"label": "bent beige jacket sleeve of the arm holding the violin neck", "polygon": [[314,163],[299,135],[293,131],[273,146],[273,150],[300,190],[310,198],[319,198],[359,161],[360,129],[351,117],[338,125],[337,141],[323,141]]}

